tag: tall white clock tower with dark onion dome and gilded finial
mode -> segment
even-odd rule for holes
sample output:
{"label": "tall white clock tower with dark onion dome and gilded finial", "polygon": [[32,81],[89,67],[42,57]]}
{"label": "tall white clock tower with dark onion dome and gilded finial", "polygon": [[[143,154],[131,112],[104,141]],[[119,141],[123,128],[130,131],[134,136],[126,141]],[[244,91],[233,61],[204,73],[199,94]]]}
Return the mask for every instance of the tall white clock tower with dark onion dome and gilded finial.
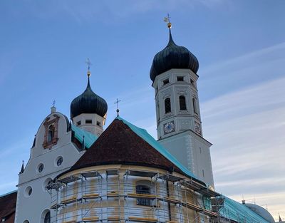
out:
{"label": "tall white clock tower with dark onion dome and gilded finial", "polygon": [[155,55],[150,78],[155,88],[157,138],[200,180],[214,187],[210,142],[203,138],[197,89],[197,58],[170,37]]}

